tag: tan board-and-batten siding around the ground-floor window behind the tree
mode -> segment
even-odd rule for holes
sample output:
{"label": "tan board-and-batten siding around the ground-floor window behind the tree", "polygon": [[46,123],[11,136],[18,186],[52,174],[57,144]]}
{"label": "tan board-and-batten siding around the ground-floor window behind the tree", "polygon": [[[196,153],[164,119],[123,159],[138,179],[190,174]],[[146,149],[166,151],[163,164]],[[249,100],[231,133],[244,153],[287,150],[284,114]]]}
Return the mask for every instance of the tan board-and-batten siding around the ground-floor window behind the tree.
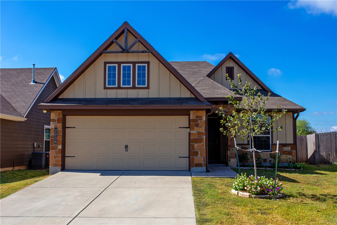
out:
{"label": "tan board-and-batten siding around the ground-floor window behind the tree", "polygon": [[[285,124],[282,124],[284,121],[286,121]],[[294,144],[293,125],[294,125],[293,113],[286,112],[285,115],[283,115],[274,123],[273,129],[275,129],[278,126],[282,126],[282,130],[271,132],[272,144],[276,144],[277,141],[280,144]],[[236,140],[237,144],[249,144],[247,138],[242,140],[240,137],[237,137]]]}

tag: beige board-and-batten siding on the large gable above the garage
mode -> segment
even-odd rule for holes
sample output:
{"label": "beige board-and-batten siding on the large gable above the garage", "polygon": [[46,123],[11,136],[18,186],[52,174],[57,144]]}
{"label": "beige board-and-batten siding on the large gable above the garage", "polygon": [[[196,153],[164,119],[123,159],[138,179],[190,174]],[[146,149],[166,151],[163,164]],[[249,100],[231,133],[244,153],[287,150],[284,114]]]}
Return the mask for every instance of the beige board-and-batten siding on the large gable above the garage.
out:
{"label": "beige board-and-batten siding on the large gable above the garage", "polygon": [[[128,45],[136,38],[128,32]],[[124,35],[117,40],[124,44]],[[109,51],[121,50],[115,43]],[[136,43],[131,50],[146,50]],[[104,89],[104,62],[149,61],[149,89]],[[151,53],[108,53],[99,57],[59,98],[193,97]]]}

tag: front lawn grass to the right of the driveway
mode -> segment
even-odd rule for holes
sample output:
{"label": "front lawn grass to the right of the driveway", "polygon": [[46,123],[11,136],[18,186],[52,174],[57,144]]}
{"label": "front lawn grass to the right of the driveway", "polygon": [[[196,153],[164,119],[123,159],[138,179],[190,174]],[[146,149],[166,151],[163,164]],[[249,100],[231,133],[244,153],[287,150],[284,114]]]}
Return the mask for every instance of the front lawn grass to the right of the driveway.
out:
{"label": "front lawn grass to the right of the driveway", "polygon": [[[273,178],[275,171],[257,175]],[[303,171],[280,171],[277,177],[287,197],[276,201],[230,193],[233,178],[192,177],[197,224],[337,224],[337,164],[306,164]]]}

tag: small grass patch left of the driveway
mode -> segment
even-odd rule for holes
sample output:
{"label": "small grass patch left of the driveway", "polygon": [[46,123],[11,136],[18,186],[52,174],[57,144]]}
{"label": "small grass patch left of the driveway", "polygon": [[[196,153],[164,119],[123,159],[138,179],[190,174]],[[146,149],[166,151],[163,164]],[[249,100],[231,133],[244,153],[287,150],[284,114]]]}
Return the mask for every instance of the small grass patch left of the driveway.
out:
{"label": "small grass patch left of the driveway", "polygon": [[0,173],[0,199],[49,177],[49,171],[8,170]]}

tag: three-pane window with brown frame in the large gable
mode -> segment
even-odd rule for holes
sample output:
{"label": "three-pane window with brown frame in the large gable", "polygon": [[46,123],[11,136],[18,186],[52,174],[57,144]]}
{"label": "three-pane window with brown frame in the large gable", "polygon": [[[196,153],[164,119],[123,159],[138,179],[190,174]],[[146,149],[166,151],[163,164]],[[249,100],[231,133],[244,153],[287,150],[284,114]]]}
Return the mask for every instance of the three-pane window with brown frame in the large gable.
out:
{"label": "three-pane window with brown frame in the large gable", "polygon": [[104,62],[104,89],[149,89],[150,62]]}

